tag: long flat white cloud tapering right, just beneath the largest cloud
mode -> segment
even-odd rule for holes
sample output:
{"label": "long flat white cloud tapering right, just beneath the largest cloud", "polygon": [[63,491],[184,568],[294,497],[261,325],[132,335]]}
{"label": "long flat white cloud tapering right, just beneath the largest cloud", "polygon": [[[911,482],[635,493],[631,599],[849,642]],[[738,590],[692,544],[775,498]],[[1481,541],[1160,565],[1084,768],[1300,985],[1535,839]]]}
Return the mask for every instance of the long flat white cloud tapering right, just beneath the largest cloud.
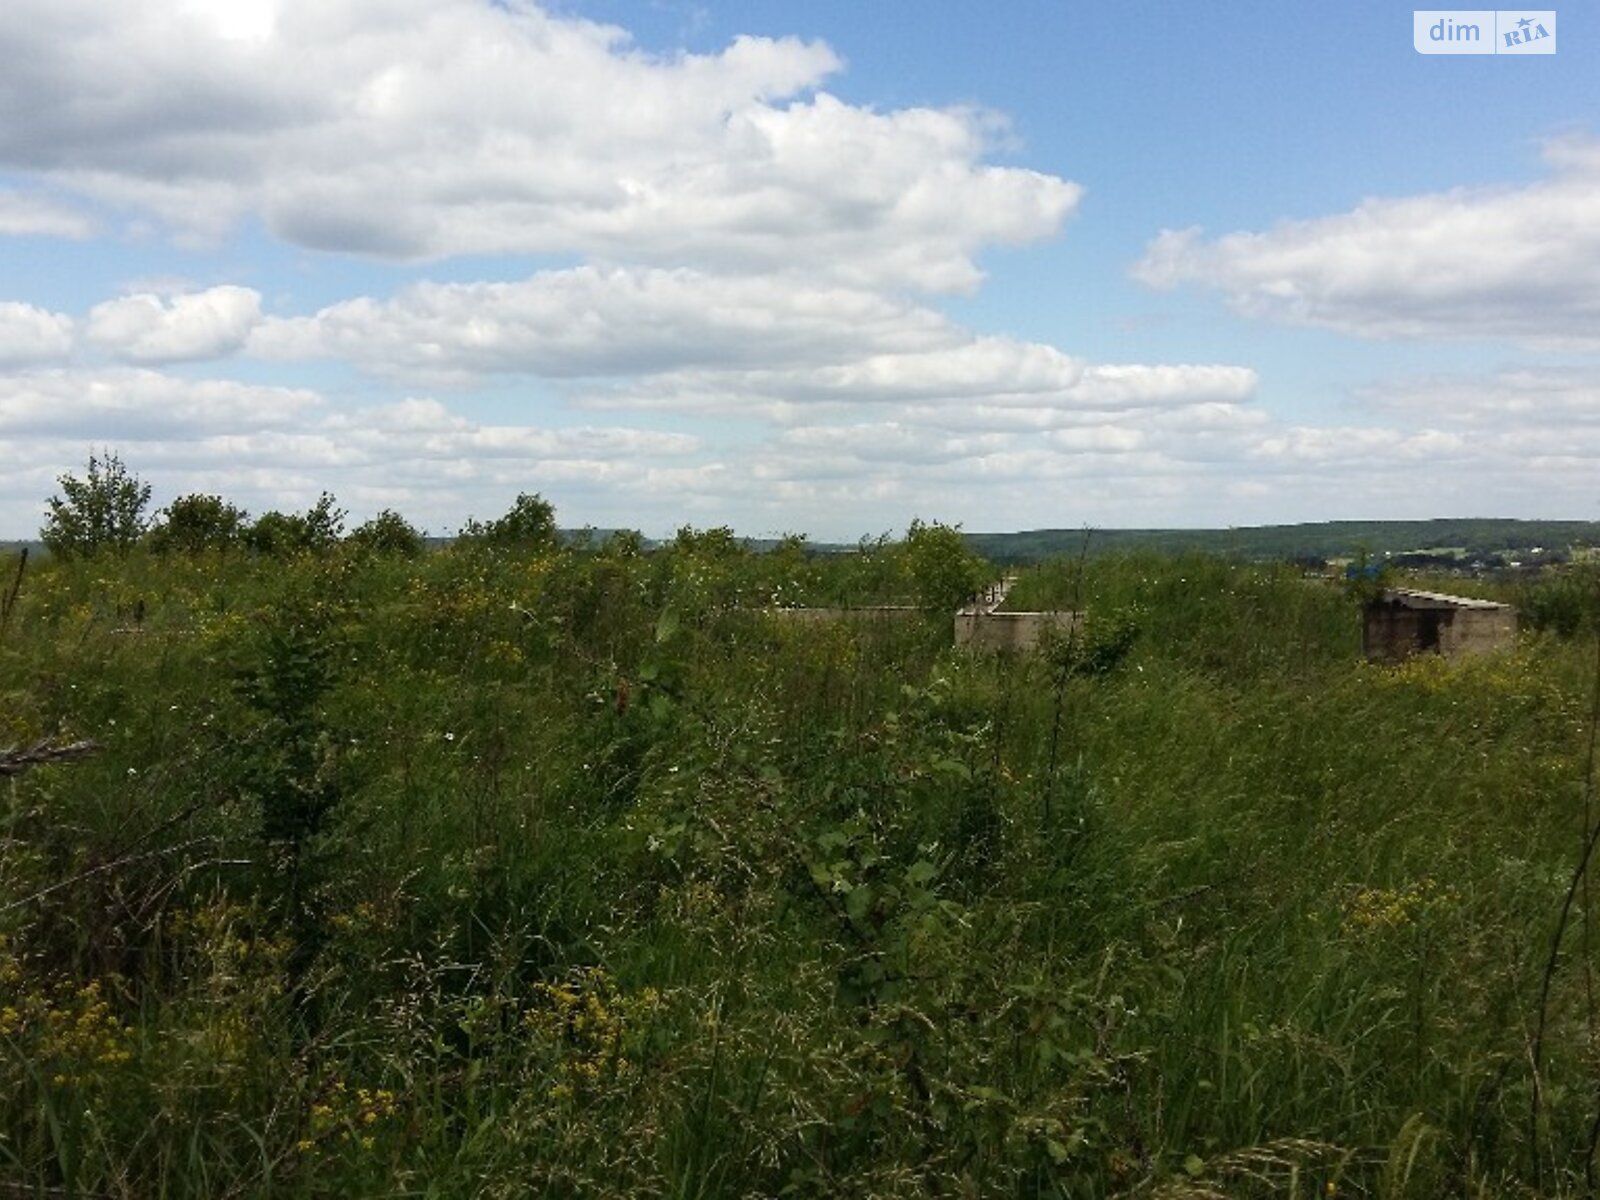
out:
{"label": "long flat white cloud tapering right, just beneath the largest cloud", "polygon": [[269,317],[248,350],[416,382],[565,381],[592,408],[794,418],[853,403],[1178,408],[1240,402],[1256,387],[1243,366],[1083,363],[1043,342],[979,336],[882,291],[648,267],[418,283],[389,299]]}

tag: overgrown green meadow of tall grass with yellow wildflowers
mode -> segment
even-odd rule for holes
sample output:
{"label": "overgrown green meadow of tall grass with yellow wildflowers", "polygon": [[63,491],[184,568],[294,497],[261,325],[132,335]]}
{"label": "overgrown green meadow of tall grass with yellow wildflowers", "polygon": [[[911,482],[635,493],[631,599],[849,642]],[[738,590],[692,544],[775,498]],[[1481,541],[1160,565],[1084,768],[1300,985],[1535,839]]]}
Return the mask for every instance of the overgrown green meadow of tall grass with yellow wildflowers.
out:
{"label": "overgrown green meadow of tall grass with yellow wildflowers", "polygon": [[0,750],[101,749],[0,778],[0,1190],[1592,1194],[1592,584],[1398,669],[1214,558],[1018,659],[766,611],[930,576],[30,563]]}

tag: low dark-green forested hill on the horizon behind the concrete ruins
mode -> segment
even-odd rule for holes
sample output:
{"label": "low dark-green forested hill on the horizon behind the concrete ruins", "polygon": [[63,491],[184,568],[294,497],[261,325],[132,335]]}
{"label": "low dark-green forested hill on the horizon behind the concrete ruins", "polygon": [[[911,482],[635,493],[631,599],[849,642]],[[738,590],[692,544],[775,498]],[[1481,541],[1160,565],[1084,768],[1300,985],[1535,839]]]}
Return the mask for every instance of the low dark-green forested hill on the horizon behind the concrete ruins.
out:
{"label": "low dark-green forested hill on the horizon behind the concrete ruins", "polygon": [[[970,533],[968,544],[986,558],[1030,563],[1075,555],[1083,530],[1027,533]],[[1456,547],[1466,557],[1600,546],[1600,522],[1525,522],[1466,518],[1429,522],[1318,522],[1314,525],[1258,525],[1237,530],[1090,530],[1088,552],[1202,550],[1235,558],[1342,558],[1362,550],[1374,555],[1432,547]]]}

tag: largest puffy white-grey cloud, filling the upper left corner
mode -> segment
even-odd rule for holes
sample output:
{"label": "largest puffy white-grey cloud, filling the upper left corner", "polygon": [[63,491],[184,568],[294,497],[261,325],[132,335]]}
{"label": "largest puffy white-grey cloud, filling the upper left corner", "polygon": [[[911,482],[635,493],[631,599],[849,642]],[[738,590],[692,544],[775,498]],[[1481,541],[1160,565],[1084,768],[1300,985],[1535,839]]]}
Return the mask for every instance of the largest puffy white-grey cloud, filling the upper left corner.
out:
{"label": "largest puffy white-grey cloud, filling the upper left corner", "polygon": [[[216,237],[565,253],[971,286],[1080,189],[986,162],[994,118],[822,91],[821,42],[650,54],[528,0],[11,0],[0,166]],[[229,10],[229,11],[224,11]]]}

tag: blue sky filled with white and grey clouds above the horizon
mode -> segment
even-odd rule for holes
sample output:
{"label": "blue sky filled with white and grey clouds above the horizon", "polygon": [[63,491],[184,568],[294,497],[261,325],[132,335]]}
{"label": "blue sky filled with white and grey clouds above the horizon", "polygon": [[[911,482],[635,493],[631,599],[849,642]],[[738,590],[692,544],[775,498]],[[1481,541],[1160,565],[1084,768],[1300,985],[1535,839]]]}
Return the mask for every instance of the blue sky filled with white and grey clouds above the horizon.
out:
{"label": "blue sky filled with white and grey clouds above the horizon", "polygon": [[0,538],[1600,518],[1600,16],[6,0]]}

